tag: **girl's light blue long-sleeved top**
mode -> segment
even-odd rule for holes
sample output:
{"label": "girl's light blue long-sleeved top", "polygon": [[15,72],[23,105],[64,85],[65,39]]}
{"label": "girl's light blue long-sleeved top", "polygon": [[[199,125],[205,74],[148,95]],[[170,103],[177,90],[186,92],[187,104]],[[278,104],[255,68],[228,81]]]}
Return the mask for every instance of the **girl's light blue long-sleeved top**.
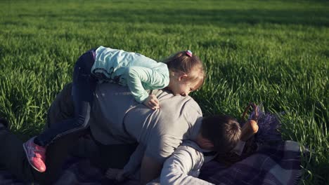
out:
{"label": "girl's light blue long-sleeved top", "polygon": [[139,53],[103,46],[96,50],[91,74],[101,81],[127,85],[137,102],[148,98],[146,90],[162,89],[169,85],[167,64]]}

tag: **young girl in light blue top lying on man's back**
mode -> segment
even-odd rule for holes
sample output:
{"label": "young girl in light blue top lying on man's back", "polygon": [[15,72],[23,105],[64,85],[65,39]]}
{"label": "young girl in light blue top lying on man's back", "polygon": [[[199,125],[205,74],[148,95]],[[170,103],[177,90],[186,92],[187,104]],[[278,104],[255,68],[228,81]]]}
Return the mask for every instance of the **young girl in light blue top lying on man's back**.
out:
{"label": "young girl in light blue top lying on man's back", "polygon": [[201,60],[190,50],[156,62],[138,53],[105,48],[89,50],[79,57],[73,72],[72,97],[75,118],[56,124],[23,144],[30,165],[39,172],[46,170],[46,146],[55,139],[89,127],[93,92],[101,82],[127,85],[137,102],[150,109],[159,109],[155,95],[146,90],[168,88],[174,95],[186,96],[197,90],[205,80]]}

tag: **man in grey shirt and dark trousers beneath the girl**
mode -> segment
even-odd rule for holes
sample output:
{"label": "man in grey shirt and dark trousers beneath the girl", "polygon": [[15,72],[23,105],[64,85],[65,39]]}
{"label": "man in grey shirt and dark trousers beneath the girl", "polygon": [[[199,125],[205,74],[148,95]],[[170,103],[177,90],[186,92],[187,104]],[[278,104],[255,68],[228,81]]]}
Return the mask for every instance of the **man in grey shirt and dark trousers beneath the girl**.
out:
{"label": "man in grey shirt and dark trousers beneath the girl", "polygon": [[[70,86],[65,87],[53,103],[49,111],[50,124],[54,123],[51,119],[73,116],[70,90]],[[77,138],[91,133],[99,146],[112,147],[109,154],[117,153],[114,158],[101,158],[104,160],[101,163],[109,165],[107,167],[120,167],[120,164],[112,163],[113,160],[125,158],[127,161],[127,155],[122,155],[134,150],[134,145],[138,142],[139,145],[125,169],[127,172],[134,172],[140,165],[141,183],[146,184],[160,174],[162,163],[183,139],[191,139],[207,149],[213,146],[213,142],[200,134],[202,112],[191,97],[174,96],[165,90],[157,90],[153,94],[160,101],[160,109],[156,111],[135,102],[125,87],[110,83],[98,85],[91,110],[90,130],[67,135],[51,144],[46,153],[47,170],[44,173],[39,173],[28,165],[22,142],[3,128],[0,130],[0,164],[5,165],[20,179],[49,184],[56,179],[67,151],[76,143]],[[67,104],[69,108],[56,109],[63,107],[63,104]],[[94,157],[91,160],[99,158]],[[135,163],[140,160],[141,164]]]}

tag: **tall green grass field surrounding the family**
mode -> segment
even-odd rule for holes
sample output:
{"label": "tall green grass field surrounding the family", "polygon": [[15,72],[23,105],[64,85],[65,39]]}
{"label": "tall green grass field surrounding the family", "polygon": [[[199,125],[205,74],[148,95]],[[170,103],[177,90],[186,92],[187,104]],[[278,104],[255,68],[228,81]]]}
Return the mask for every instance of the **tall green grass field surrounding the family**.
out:
{"label": "tall green grass field surrounding the family", "polygon": [[[329,184],[328,1],[0,1],[0,116],[26,139],[72,80],[84,51],[109,46],[162,60],[190,49],[207,82],[205,115],[248,102],[280,114],[311,151],[301,184]],[[304,149],[304,147],[302,147]]]}

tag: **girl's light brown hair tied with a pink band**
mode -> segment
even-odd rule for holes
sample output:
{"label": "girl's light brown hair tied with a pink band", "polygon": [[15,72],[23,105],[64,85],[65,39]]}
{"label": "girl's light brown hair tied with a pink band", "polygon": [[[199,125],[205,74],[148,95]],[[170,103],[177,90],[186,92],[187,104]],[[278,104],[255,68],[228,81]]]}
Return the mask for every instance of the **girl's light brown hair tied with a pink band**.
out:
{"label": "girl's light brown hair tied with a pink band", "polygon": [[205,82],[205,67],[199,57],[188,52],[191,51],[180,51],[163,62],[167,64],[169,71],[188,74],[188,81],[197,81],[197,88],[200,88]]}

